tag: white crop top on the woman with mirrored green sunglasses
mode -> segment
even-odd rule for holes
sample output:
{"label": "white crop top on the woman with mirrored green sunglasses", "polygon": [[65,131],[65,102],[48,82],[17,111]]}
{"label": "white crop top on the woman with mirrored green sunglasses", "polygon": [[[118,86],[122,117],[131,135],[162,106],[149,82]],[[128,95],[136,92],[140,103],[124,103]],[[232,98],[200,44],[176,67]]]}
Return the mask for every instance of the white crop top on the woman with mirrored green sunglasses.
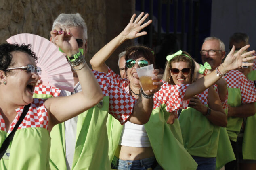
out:
{"label": "white crop top on the woman with mirrored green sunglasses", "polygon": [[151,147],[144,125],[127,121],[124,124],[119,145],[129,147]]}

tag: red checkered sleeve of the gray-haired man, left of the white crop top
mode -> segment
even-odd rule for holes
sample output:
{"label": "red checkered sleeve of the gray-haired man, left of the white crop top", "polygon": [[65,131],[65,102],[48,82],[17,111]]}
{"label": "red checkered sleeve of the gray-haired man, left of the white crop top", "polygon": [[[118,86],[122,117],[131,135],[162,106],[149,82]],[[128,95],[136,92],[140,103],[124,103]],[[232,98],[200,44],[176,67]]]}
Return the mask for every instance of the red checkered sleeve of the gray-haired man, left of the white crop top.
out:
{"label": "red checkered sleeve of the gray-haired man, left of the white crop top", "polygon": [[104,96],[109,96],[109,114],[122,125],[132,114],[136,99],[127,94],[109,74],[93,71]]}

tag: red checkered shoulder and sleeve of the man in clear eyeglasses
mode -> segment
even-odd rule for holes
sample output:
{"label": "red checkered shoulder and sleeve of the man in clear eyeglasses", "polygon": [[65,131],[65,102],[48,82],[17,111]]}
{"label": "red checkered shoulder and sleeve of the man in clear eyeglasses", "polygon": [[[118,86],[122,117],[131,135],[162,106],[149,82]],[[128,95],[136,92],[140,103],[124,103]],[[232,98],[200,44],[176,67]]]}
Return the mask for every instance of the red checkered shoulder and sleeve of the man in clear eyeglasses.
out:
{"label": "red checkered shoulder and sleeve of the man in clear eyeglasses", "polygon": [[243,73],[238,70],[231,70],[227,72],[227,75],[224,78],[229,88],[240,89],[242,103],[252,103],[256,101],[254,90]]}

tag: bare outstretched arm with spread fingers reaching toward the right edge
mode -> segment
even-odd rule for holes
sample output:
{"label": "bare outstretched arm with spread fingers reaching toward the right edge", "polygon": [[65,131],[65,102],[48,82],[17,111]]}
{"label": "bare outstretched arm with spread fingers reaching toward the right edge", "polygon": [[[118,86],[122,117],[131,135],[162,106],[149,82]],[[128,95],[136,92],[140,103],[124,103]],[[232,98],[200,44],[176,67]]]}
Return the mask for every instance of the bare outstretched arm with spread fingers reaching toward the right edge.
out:
{"label": "bare outstretched arm with spread fingers reaching toward the right edge", "polygon": [[[246,56],[254,53],[255,51],[249,51],[247,53],[242,54],[243,51],[246,51],[250,45],[246,45],[242,47],[237,53],[235,52],[235,46],[233,46],[230,53],[227,55],[226,59],[224,60],[224,63],[222,63],[218,69],[219,73],[224,75],[228,71],[239,68],[241,66],[252,66],[253,63],[243,63],[243,61],[249,61],[251,59],[255,59],[256,56],[245,58]],[[209,88],[212,86],[212,84],[216,83],[222,76],[218,76],[218,74],[214,71],[210,74],[207,74],[203,78],[198,79],[196,82],[190,84],[187,87],[187,90],[185,92],[184,100],[187,100],[196,94],[200,94],[206,88]]]}

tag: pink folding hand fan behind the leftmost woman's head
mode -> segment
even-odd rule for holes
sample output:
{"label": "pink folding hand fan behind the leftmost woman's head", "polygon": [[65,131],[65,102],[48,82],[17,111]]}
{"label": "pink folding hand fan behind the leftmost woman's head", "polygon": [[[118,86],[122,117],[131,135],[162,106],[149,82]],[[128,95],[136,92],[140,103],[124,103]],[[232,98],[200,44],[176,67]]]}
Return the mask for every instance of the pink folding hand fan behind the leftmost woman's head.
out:
{"label": "pink folding hand fan behind the leftmost woman's head", "polygon": [[45,86],[61,90],[74,90],[74,78],[66,57],[48,39],[34,34],[17,34],[6,40],[8,43],[31,44],[38,57],[38,67],[42,69],[41,80]]}

